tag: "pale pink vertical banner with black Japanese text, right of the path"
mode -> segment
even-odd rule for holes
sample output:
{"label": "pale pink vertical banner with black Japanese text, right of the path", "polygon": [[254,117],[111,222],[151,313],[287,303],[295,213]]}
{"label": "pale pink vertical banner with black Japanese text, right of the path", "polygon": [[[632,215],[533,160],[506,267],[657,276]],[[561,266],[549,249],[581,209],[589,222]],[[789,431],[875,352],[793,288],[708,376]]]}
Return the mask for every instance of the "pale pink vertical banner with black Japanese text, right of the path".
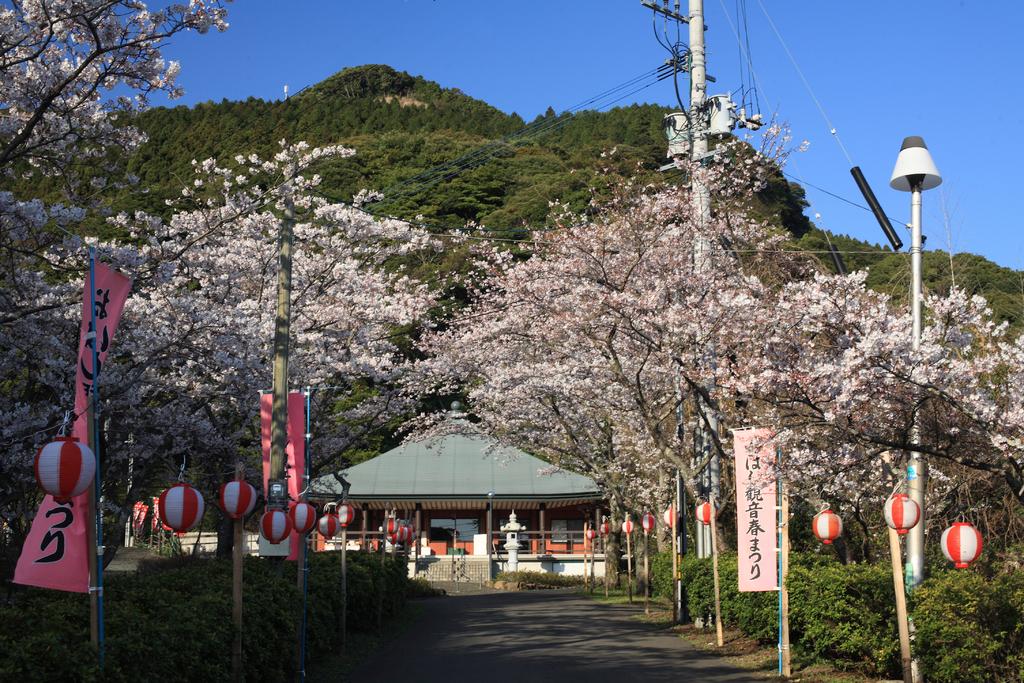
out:
{"label": "pale pink vertical banner with black Japanese text, right of the path", "polygon": [[771,429],[736,429],[736,551],[741,592],[778,590],[778,512]]}

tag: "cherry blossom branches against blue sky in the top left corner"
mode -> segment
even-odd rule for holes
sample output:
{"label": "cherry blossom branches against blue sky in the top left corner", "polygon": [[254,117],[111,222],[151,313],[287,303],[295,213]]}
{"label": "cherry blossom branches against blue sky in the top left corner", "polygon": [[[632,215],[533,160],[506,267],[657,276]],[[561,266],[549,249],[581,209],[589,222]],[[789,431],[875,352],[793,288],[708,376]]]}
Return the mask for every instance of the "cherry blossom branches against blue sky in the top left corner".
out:
{"label": "cherry blossom branches against blue sky in the top left corner", "polygon": [[[183,31],[224,30],[219,0],[12,0],[0,8],[0,169],[47,174],[143,138],[122,114],[178,96],[161,48]],[[118,94],[115,94],[115,91]],[[123,94],[121,94],[123,93]],[[17,164],[25,162],[25,164]]]}

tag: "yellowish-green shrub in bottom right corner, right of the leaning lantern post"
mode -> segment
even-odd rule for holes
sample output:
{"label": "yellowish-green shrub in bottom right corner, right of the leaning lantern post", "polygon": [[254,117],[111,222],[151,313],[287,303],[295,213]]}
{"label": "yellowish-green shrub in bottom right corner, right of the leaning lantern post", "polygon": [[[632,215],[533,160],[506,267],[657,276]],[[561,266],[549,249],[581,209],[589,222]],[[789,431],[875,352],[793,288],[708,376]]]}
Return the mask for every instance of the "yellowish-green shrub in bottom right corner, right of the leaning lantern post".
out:
{"label": "yellowish-green shrub in bottom right corner, right of the leaning lantern post", "polygon": [[1021,680],[1024,578],[946,569],[912,594],[914,652],[929,681]]}

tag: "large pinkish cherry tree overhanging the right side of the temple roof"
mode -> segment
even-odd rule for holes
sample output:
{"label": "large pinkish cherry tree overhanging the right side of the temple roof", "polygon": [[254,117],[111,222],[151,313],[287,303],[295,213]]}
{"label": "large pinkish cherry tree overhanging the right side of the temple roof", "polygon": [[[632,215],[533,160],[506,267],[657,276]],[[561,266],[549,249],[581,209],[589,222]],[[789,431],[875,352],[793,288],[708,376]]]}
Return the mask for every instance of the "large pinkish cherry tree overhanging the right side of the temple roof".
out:
{"label": "large pinkish cherry tree overhanging the right side of the temple roof", "polygon": [[708,380],[753,343],[767,296],[753,273],[768,259],[793,269],[780,237],[745,211],[764,159],[723,158],[706,172],[710,221],[686,188],[626,187],[535,233],[527,260],[486,255],[469,309],[425,342],[435,390],[464,386],[486,431],[595,477],[620,514],[664,505],[658,472],[678,467],[692,483],[682,404],[700,395],[705,421],[727,410]]}

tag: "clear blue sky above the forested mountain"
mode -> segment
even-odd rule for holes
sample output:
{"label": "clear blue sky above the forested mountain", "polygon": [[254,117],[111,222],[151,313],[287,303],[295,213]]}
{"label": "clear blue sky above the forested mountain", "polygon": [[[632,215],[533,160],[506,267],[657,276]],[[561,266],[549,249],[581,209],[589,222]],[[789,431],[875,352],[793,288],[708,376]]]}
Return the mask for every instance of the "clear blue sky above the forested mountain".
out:
{"label": "clear blue sky above the forested mountain", "polygon": [[[737,2],[706,0],[709,73],[718,79],[712,93],[740,83],[728,20],[735,23]],[[1014,50],[1024,4],[745,0],[762,112],[777,113],[797,140],[810,142],[788,172],[858,204],[850,164],[762,3],[887,213],[909,216],[908,195],[890,189],[888,181],[902,138],[922,135],[944,178],[925,195],[927,246],[1024,268],[1016,207],[1024,91],[1015,85]],[[685,10],[686,0],[682,4]],[[529,120],[549,105],[560,112],[618,85],[667,56],[639,0],[242,0],[228,7],[226,33],[176,37],[165,50],[182,63],[184,103],[279,98],[285,83],[295,92],[345,67],[387,63]],[[670,104],[675,95],[665,81],[630,99]],[[807,191],[808,213],[820,214],[821,226],[885,242],[866,211]]]}

